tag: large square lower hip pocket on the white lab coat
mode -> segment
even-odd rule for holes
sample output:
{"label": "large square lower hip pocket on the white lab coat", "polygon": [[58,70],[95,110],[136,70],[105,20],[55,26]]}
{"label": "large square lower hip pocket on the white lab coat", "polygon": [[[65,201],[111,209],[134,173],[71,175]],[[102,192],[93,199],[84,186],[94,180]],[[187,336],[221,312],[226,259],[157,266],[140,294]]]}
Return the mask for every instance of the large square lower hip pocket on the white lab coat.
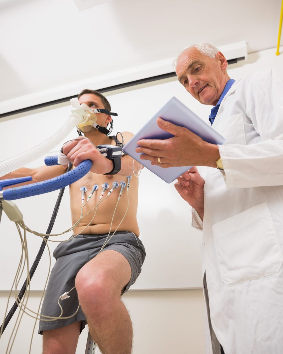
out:
{"label": "large square lower hip pocket on the white lab coat", "polygon": [[266,203],[213,225],[221,279],[228,286],[277,273],[283,262]]}

